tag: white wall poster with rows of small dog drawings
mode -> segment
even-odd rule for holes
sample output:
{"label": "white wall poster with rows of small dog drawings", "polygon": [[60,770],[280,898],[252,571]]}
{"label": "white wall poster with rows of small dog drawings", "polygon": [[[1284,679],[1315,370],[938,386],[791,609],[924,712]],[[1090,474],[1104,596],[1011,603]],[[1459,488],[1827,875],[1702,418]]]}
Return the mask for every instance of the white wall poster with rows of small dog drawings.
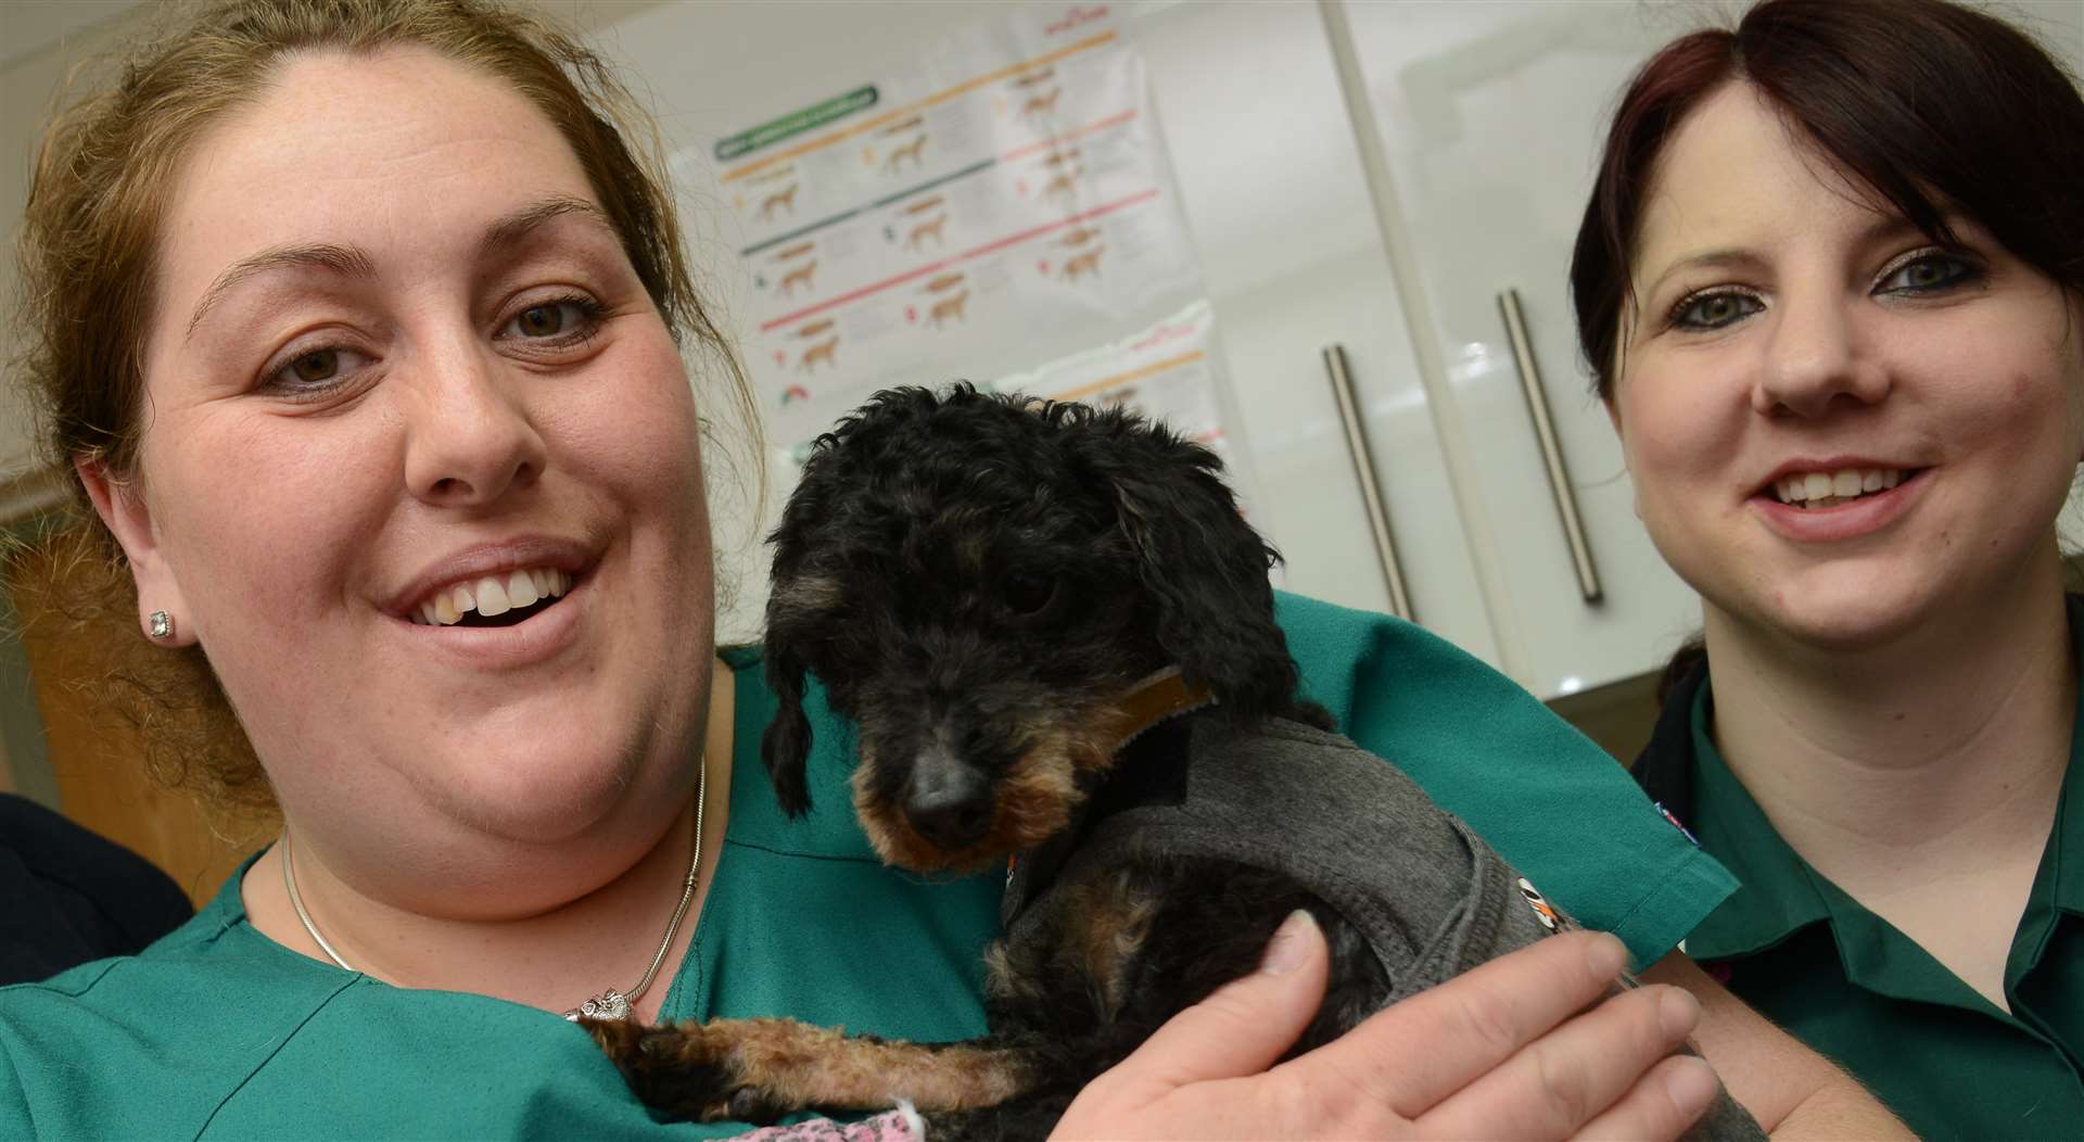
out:
{"label": "white wall poster with rows of small dog drawings", "polygon": [[[1067,381],[1044,396],[1134,400],[1223,438],[1217,394],[1198,392],[1215,383],[1207,354],[1092,388],[1152,365],[1132,348],[1146,338],[1111,340],[1123,315],[1205,292],[1142,56],[1109,6],[952,31],[717,140],[713,158],[746,233],[746,369],[790,458],[879,388],[1009,361]],[[1207,338],[1207,302],[1192,321]],[[1075,367],[1040,367],[1044,346],[1094,342]]]}

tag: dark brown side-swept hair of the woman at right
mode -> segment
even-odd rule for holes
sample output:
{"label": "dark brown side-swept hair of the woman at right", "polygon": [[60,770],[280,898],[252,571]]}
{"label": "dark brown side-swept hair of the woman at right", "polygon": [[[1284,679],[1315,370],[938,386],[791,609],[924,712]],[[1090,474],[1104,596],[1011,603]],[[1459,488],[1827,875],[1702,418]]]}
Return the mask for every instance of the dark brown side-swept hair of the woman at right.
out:
{"label": "dark brown side-swept hair of the woman at right", "polygon": [[1946,213],[1959,210],[2084,294],[2084,98],[2049,52],[1946,0],[1763,0],[1734,31],[1696,31],[1657,52],[1613,115],[1569,271],[1601,398],[1619,375],[1657,158],[1709,94],[1738,79],[1878,206],[1936,242],[1953,242]]}

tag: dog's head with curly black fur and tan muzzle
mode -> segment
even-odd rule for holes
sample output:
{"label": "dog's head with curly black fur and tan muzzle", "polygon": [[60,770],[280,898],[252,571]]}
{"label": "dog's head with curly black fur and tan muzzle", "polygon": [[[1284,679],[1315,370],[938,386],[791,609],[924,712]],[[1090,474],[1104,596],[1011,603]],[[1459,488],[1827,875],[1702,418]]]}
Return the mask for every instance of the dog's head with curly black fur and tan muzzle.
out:
{"label": "dog's head with curly black fur and tan muzzle", "polygon": [[[1219,473],[1130,411],[969,386],[877,394],[819,438],[773,533],[763,754],[782,806],[809,809],[807,671],[859,725],[857,809],[907,867],[977,867],[1055,834],[1075,809],[1065,779],[1105,767],[1086,756],[1096,736],[1161,667],[1227,717],[1323,723],[1294,702],[1273,623],[1280,556]],[[936,844],[900,811],[921,779],[1019,796],[971,844]]]}

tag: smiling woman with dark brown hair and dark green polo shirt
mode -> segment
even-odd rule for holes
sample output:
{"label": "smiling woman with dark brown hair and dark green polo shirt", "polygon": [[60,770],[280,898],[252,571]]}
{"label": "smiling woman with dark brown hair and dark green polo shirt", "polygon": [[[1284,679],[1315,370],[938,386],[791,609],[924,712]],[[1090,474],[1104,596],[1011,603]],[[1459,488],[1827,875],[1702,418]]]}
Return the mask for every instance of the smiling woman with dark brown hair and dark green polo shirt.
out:
{"label": "smiling woman with dark brown hair and dark green polo shirt", "polygon": [[2074,1136],[2074,79],[1940,0],[1767,0],[1640,71],[1571,283],[1705,606],[1636,763],[1744,882],[1688,954],[1926,1138]]}

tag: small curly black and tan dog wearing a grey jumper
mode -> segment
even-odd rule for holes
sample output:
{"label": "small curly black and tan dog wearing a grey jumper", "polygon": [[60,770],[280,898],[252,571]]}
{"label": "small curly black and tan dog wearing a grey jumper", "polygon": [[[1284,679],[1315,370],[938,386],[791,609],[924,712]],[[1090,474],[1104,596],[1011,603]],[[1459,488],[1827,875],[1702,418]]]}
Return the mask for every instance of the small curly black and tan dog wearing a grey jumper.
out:
{"label": "small curly black and tan dog wearing a grey jumper", "polygon": [[[1294,909],[1332,946],[1294,1052],[1559,923],[1296,700],[1277,556],[1219,471],[1132,413],[969,386],[877,394],[817,442],[773,533],[767,769],[807,811],[815,673],[859,725],[854,809],[888,863],[1017,859],[992,1032],[594,1023],[646,1102],[769,1121],[904,1098],[936,1140],[1042,1138],[1086,1082],[1252,971]],[[1715,1136],[1761,1138],[1728,1098],[1719,1115]]]}

